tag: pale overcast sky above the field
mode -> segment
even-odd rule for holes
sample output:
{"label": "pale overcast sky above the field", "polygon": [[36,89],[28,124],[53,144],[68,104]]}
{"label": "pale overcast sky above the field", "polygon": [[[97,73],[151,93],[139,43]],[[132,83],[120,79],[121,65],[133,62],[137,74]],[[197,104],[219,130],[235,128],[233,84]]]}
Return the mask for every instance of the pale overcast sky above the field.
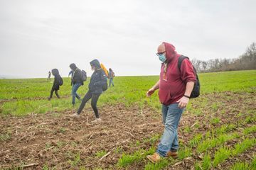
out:
{"label": "pale overcast sky above the field", "polygon": [[158,45],[191,59],[235,58],[256,40],[256,1],[0,0],[0,77],[92,74],[98,59],[117,76],[157,75]]}

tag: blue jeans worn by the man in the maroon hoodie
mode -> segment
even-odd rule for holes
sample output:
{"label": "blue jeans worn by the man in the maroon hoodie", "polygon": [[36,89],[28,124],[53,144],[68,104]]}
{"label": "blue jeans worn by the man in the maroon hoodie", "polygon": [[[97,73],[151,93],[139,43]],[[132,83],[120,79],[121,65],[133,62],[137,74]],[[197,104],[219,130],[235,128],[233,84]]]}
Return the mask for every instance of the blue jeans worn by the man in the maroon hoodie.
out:
{"label": "blue jeans worn by the man in the maroon hoodie", "polygon": [[162,106],[164,133],[161,137],[156,152],[161,157],[166,157],[169,150],[176,151],[178,149],[178,123],[184,108],[178,108],[178,103],[170,104],[169,106]]}

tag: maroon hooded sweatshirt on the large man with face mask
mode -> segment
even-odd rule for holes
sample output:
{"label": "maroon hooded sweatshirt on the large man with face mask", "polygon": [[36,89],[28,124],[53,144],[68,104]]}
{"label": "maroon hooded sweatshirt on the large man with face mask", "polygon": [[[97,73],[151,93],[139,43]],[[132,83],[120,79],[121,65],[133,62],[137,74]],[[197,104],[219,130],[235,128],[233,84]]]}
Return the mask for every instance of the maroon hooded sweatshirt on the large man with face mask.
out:
{"label": "maroon hooded sweatshirt on the large man with face mask", "polygon": [[193,66],[188,59],[181,63],[181,72],[178,70],[178,53],[174,45],[163,42],[166,48],[166,62],[161,65],[159,100],[164,105],[177,103],[186,91],[188,81],[196,82]]}

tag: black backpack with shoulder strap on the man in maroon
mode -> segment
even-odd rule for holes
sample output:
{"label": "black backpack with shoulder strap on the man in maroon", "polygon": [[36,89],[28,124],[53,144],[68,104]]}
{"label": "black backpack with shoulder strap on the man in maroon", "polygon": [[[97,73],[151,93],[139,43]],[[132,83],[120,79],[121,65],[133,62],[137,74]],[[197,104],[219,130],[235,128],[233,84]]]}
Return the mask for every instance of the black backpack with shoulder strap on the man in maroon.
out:
{"label": "black backpack with shoulder strap on the man in maroon", "polygon": [[[181,57],[178,57],[178,70],[181,72],[181,63],[184,59],[188,59],[188,57],[181,55]],[[200,81],[198,79],[198,74],[196,73],[195,67],[193,67],[193,71],[196,75],[196,83],[193,87],[193,91],[191,92],[190,98],[197,98],[200,95]]]}

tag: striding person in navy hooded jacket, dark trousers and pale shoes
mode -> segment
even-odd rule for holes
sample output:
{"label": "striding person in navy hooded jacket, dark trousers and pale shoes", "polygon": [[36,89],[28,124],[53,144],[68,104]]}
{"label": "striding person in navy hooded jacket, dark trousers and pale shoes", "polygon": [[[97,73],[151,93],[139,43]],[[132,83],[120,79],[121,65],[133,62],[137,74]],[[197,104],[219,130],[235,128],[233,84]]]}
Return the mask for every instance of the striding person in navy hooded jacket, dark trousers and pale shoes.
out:
{"label": "striding person in navy hooded jacket, dark trousers and pale shoes", "polygon": [[77,113],[74,114],[74,116],[78,117],[82,112],[82,109],[85,107],[85,103],[87,103],[87,101],[89,101],[90,98],[92,98],[91,106],[96,117],[96,119],[93,120],[92,123],[100,123],[101,119],[99,112],[97,110],[97,101],[103,92],[102,86],[106,83],[105,81],[107,81],[107,76],[105,72],[101,69],[100,62],[98,60],[92,60],[92,62],[90,62],[90,65],[94,72],[90,79],[89,90],[87,91],[87,94],[85,94],[85,97],[82,98],[82,103],[78,108]]}

